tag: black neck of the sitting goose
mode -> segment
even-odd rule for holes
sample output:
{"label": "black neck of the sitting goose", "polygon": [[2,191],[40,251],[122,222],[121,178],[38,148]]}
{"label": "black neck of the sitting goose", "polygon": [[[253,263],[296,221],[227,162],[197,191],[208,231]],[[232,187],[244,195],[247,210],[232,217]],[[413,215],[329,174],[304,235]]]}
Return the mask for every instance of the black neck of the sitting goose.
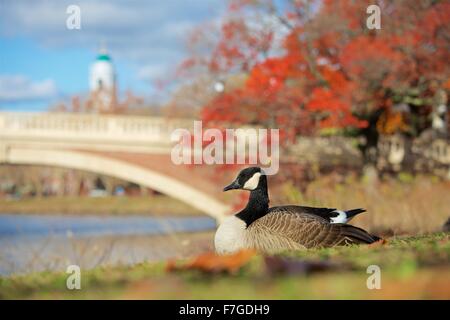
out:
{"label": "black neck of the sitting goose", "polygon": [[269,211],[269,194],[267,192],[267,179],[262,175],[258,187],[250,192],[247,206],[236,217],[243,220],[247,227],[253,221],[265,216]]}

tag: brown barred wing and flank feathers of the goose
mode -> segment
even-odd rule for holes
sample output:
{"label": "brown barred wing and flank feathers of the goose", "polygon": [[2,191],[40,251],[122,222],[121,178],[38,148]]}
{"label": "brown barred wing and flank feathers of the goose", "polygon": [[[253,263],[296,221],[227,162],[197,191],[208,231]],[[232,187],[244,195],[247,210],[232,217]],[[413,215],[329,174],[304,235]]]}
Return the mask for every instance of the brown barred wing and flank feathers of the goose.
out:
{"label": "brown barred wing and flank feathers of the goose", "polygon": [[271,208],[268,214],[254,221],[247,230],[247,242],[257,250],[269,253],[373,243],[378,240],[360,228],[330,224],[326,219],[296,206]]}

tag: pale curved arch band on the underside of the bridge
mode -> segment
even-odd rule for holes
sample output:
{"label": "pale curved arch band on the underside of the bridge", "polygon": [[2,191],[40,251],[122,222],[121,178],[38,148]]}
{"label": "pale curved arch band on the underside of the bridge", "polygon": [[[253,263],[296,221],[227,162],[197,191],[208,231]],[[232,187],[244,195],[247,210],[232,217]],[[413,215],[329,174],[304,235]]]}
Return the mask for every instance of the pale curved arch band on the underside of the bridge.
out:
{"label": "pale curved arch band on the underside of the bridge", "polygon": [[3,153],[0,162],[78,169],[134,182],[183,201],[218,221],[230,211],[229,206],[191,185],[125,161],[63,149],[10,148]]}

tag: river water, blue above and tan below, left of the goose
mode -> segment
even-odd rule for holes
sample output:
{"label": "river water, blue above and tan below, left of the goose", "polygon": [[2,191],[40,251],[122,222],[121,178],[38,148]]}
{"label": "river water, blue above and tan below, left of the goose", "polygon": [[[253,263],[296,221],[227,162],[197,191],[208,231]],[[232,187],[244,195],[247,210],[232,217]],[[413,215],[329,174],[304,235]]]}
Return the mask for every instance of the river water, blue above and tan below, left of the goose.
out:
{"label": "river water, blue above and tan below, left of the goose", "polygon": [[208,217],[0,215],[0,275],[180,258],[211,249]]}

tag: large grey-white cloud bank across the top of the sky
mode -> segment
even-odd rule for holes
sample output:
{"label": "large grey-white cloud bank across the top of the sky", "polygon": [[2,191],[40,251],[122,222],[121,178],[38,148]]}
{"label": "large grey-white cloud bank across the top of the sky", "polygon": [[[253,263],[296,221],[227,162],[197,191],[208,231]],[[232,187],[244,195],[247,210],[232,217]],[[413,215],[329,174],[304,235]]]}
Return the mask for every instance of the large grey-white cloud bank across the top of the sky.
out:
{"label": "large grey-white cloud bank across the top of the sky", "polygon": [[[81,9],[80,30],[66,28],[71,4]],[[219,16],[224,6],[223,0],[4,1],[0,36],[25,36],[46,47],[93,52],[105,42],[113,58],[138,66],[137,78],[156,80],[164,74],[162,68],[170,70],[183,58],[184,39],[192,28]]]}

